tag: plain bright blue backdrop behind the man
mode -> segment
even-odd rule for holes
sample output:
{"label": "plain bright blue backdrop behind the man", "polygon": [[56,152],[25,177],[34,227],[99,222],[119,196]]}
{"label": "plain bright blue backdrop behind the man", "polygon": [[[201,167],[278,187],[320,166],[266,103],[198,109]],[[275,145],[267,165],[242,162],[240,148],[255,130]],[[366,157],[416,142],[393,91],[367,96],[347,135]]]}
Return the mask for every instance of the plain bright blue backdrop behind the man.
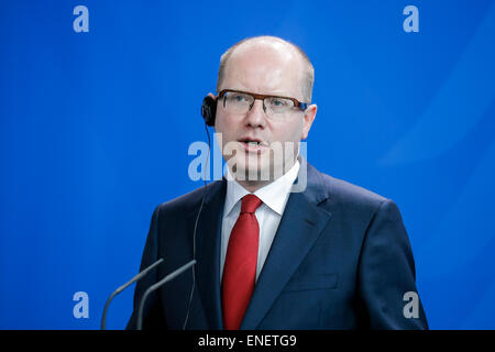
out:
{"label": "plain bright blue backdrop behind the man", "polygon": [[[89,9],[89,33],[73,10]],[[403,9],[419,9],[406,33]],[[202,97],[245,36],[300,45],[308,161],[394,199],[432,329],[495,328],[493,1],[1,1],[0,328],[97,329],[152,211],[201,186]],[[331,135],[331,138],[329,138]],[[132,287],[133,288],[133,287]],[[89,295],[89,318],[73,295]],[[110,306],[121,329],[133,289]]]}

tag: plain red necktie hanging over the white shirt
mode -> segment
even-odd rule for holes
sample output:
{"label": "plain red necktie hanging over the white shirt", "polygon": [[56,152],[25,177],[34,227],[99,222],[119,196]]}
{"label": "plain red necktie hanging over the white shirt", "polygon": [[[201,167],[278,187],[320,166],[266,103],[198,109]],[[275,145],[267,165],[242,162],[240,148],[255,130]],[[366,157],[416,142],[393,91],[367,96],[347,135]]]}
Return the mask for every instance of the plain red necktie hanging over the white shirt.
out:
{"label": "plain red necktie hanging over the white shirt", "polygon": [[232,228],[222,277],[223,327],[237,330],[254,290],[260,226],[254,212],[262,201],[254,195],[242,198],[241,213]]}

